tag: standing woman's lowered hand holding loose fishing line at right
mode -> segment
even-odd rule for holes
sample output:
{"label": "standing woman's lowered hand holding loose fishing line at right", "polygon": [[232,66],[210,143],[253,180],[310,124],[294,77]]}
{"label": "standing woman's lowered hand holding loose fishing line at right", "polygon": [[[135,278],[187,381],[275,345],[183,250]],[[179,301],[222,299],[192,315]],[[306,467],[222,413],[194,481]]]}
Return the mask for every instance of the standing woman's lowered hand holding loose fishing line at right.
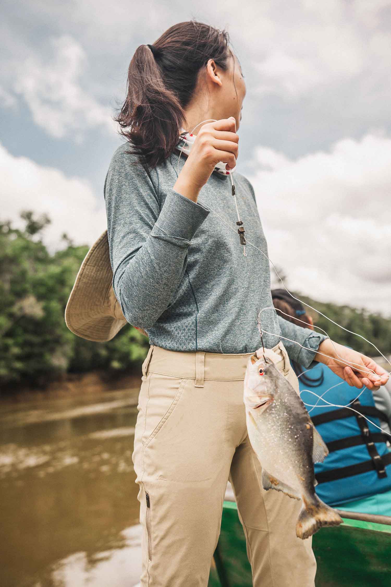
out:
{"label": "standing woman's lowered hand holding loose fishing line at right", "polygon": [[[356,350],[339,345],[338,342],[334,342],[329,338],[322,340],[314,360],[324,363],[336,375],[344,379],[346,383],[349,383],[350,386],[358,387],[358,389],[365,385],[367,389],[377,390],[389,378],[386,370],[380,367],[373,359],[358,353]],[[346,366],[345,363],[349,363],[351,367]]]}

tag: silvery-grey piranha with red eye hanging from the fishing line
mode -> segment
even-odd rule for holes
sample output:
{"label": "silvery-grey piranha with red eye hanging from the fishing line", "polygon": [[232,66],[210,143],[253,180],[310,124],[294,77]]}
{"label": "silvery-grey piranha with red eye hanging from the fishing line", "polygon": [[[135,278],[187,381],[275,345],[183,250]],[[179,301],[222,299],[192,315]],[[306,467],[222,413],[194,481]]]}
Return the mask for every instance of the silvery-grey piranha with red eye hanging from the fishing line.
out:
{"label": "silvery-grey piranha with red eye hanging from the fishing line", "polygon": [[[314,489],[314,463],[324,460],[328,448],[304,403],[277,369],[275,362],[281,357],[270,349],[265,354],[261,349],[257,353],[249,358],[244,376],[250,443],[261,463],[263,488],[302,500],[296,535],[308,538],[323,526],[342,523],[338,513],[319,500]],[[277,360],[273,362],[271,355]]]}

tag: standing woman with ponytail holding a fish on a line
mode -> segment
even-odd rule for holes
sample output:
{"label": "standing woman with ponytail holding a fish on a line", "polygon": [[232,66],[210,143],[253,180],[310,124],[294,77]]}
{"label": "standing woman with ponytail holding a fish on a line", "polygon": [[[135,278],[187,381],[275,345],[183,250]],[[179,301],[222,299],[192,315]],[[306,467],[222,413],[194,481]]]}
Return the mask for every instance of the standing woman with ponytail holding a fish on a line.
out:
{"label": "standing woman with ponytail holding a fish on a line", "polygon": [[[113,289],[127,321],[144,329],[151,345],[132,457],[144,586],[207,585],[228,478],[254,585],[314,585],[311,539],[294,531],[300,504],[262,490],[246,430],[244,372],[260,348],[257,312],[272,303],[268,262],[250,246],[243,255],[234,224],[229,176],[245,94],[227,33],[181,22],[137,48],[116,118],[127,143],[115,151],[104,186]],[[193,129],[196,140],[177,174],[180,134]],[[234,183],[246,236],[267,254],[253,187],[237,171]],[[298,390],[288,354],[309,366],[331,360],[324,355],[334,349],[324,335],[274,311],[263,314],[273,333],[264,344]],[[303,348],[284,345],[281,333]],[[369,361],[336,346],[346,359]],[[362,373],[339,369],[361,386]]]}

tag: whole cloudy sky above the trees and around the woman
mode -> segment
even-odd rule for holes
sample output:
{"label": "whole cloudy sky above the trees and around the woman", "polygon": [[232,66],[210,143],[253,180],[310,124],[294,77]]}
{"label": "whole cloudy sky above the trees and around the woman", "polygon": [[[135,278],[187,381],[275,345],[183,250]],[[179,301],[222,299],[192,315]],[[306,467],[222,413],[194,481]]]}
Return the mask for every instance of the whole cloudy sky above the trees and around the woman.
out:
{"label": "whole cloudy sky above the trees and around the woman", "polygon": [[64,231],[92,244],[131,57],[196,18],[227,29],[242,65],[237,170],[288,288],[391,315],[391,0],[2,6],[2,220],[31,208],[52,218],[50,248]]}

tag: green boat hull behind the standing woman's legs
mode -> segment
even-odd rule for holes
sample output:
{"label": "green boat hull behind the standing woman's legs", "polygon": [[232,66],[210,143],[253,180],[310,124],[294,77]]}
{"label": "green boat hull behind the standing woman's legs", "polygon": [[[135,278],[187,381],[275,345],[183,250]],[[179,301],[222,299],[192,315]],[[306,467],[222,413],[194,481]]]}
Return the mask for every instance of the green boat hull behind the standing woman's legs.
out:
{"label": "green boat hull behind the standing woman's legs", "polygon": [[[321,528],[314,535],[316,587],[390,587],[391,518],[345,513],[349,518],[366,519],[343,518],[344,524]],[[386,524],[371,519],[382,519]],[[252,587],[246,539],[233,501],[223,504],[208,587]]]}

